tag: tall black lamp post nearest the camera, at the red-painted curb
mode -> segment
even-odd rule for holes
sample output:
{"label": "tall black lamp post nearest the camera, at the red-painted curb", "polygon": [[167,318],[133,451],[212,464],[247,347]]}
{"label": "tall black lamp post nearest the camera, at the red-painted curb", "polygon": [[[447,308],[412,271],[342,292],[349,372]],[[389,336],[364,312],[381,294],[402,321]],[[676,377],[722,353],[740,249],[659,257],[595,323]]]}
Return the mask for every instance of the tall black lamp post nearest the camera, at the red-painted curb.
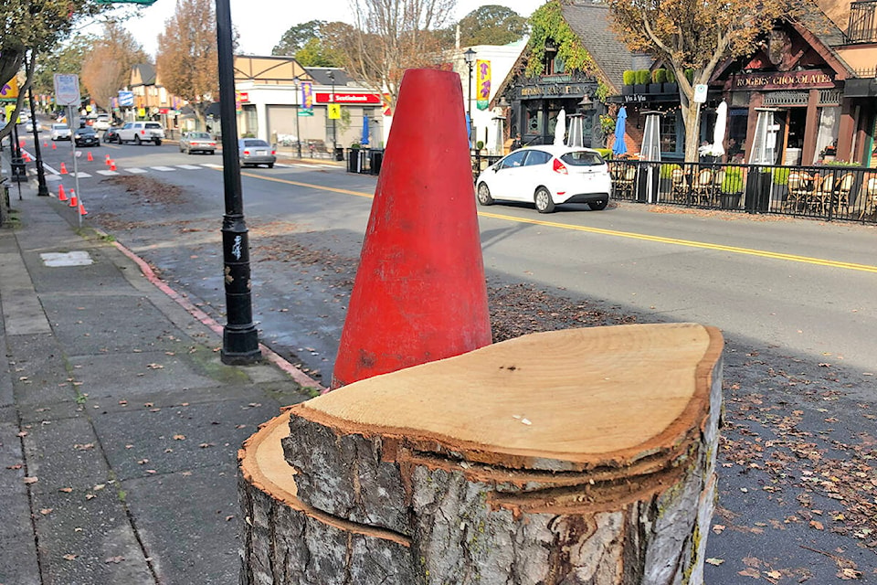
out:
{"label": "tall black lamp post nearest the camera, at the red-painted curb", "polygon": [[227,325],[222,331],[222,362],[253,364],[262,356],[259,332],[253,324],[249,280],[249,240],[244,222],[240,185],[238,125],[235,119],[235,69],[229,0],[217,0],[219,58],[219,120],[222,125],[222,178],[226,214],[222,219],[222,255],[225,264]]}

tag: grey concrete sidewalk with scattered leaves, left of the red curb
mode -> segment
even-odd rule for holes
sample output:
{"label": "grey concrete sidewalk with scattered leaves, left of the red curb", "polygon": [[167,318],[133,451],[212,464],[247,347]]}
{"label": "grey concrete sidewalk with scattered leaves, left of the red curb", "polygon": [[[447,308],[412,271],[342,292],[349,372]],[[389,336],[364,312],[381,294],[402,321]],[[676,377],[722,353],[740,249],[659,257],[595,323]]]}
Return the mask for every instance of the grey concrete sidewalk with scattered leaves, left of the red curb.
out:
{"label": "grey concrete sidewalk with scattered leaves, left of the red curb", "polygon": [[54,197],[11,199],[0,585],[238,582],[238,447],[306,393],[273,364],[223,365],[209,320]]}

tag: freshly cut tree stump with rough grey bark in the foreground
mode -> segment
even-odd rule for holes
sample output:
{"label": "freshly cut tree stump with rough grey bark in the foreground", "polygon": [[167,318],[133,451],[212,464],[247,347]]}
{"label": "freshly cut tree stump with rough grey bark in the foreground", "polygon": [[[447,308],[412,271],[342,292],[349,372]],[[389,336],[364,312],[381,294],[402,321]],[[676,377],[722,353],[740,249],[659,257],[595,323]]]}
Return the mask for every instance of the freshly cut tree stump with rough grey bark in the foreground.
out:
{"label": "freshly cut tree stump with rough grey bark in the foreground", "polygon": [[296,405],[239,454],[241,583],[700,584],[722,347],[525,335]]}

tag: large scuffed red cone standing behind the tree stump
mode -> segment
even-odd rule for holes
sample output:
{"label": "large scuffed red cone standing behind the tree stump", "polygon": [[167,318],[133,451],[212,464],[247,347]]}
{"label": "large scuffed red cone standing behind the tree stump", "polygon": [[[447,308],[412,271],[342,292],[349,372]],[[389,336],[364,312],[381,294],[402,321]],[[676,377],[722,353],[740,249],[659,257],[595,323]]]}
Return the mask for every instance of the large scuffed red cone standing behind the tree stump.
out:
{"label": "large scuffed red cone standing behind the tree stump", "polygon": [[463,103],[458,74],[405,72],[332,388],[491,343]]}

